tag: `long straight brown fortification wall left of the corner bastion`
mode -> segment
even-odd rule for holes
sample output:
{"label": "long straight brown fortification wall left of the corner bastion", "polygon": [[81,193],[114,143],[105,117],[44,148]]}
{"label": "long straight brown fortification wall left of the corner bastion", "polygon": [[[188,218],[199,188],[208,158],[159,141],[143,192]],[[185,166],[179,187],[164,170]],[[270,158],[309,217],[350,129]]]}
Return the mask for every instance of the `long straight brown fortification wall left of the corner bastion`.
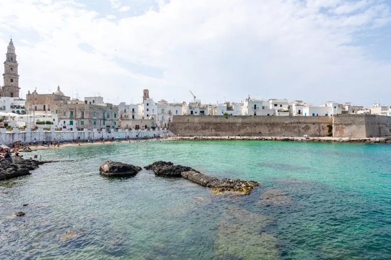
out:
{"label": "long straight brown fortification wall left of the corner bastion", "polygon": [[326,137],[327,116],[174,116],[169,129],[178,136]]}

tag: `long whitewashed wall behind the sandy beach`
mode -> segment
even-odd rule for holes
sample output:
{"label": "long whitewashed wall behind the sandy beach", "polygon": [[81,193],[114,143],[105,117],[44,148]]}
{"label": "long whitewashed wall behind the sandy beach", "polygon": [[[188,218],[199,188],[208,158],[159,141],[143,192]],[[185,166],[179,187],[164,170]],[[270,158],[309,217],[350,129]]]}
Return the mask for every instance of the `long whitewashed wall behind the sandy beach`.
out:
{"label": "long whitewashed wall behind the sandy beach", "polygon": [[98,140],[101,138],[109,139],[121,137],[122,139],[126,138],[144,138],[144,137],[167,137],[170,136],[169,131],[166,130],[152,130],[152,131],[121,131],[118,129],[118,132],[106,132],[106,129],[98,131],[94,129],[93,131],[54,131],[54,128],[51,131],[43,131],[42,128],[39,128],[37,131],[31,131],[30,128],[26,128],[24,131],[21,131],[17,128],[13,129],[11,132],[6,132],[5,128],[0,129],[0,144],[10,145],[13,142],[20,140],[22,143],[34,143],[34,142],[55,142],[55,141],[72,141],[72,140]]}

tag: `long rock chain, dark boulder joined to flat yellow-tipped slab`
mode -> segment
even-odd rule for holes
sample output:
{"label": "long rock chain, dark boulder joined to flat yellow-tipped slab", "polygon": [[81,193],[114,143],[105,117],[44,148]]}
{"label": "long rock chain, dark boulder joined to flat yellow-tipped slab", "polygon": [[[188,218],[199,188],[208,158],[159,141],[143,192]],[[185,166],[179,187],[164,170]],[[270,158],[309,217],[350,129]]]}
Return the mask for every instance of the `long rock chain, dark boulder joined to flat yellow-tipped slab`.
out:
{"label": "long rock chain, dark boulder joined to flat yellow-tipped slab", "polygon": [[259,183],[255,181],[242,181],[239,179],[219,180],[202,174],[191,167],[174,165],[171,161],[156,161],[144,168],[153,171],[156,176],[183,177],[204,187],[212,188],[214,192],[233,191],[247,195],[259,185]]}

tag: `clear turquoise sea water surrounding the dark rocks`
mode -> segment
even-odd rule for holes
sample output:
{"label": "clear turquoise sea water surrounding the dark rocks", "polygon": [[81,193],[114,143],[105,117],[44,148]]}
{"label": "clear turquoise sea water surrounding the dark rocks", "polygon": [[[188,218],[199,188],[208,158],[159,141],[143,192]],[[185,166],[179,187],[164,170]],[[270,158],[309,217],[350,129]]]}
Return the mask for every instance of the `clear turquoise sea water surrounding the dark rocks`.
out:
{"label": "clear turquoise sea water surrounding the dark rocks", "polygon": [[[0,259],[391,258],[390,145],[149,141],[36,153],[75,161],[0,182]],[[237,196],[144,170],[108,179],[108,159],[170,160],[261,186]],[[270,189],[286,203],[260,203]]]}

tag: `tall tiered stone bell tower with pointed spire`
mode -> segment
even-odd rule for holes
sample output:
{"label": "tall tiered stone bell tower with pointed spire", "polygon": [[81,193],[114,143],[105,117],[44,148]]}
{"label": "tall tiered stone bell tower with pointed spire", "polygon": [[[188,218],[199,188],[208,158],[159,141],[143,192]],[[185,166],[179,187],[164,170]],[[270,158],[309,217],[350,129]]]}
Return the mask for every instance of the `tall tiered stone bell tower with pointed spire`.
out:
{"label": "tall tiered stone bell tower with pointed spire", "polygon": [[12,39],[8,44],[6,61],[4,61],[3,82],[2,96],[19,98],[18,62],[16,62],[15,46]]}

